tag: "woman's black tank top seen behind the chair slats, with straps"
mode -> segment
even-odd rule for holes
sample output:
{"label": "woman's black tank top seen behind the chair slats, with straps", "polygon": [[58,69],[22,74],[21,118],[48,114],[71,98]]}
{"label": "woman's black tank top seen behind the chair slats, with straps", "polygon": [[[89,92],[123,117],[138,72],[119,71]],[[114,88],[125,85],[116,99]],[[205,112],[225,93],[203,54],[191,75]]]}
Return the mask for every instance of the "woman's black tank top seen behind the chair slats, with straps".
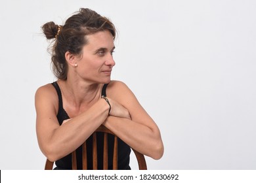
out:
{"label": "woman's black tank top seen behind the chair slats, with straps", "polygon": [[[58,93],[58,123],[62,125],[64,120],[70,119],[68,113],[63,108],[62,94],[60,87],[57,82],[52,83],[56,92]],[[108,84],[104,84],[102,88],[102,95],[106,96],[106,87]],[[88,169],[93,169],[93,137],[92,135],[87,139],[87,159],[88,159]],[[108,169],[113,169],[112,159],[113,159],[113,148],[114,148],[114,136],[108,135]],[[98,169],[103,169],[103,133],[97,133],[97,150],[98,150]],[[131,148],[121,139],[118,138],[118,169],[129,170]],[[79,146],[76,150],[77,155],[77,169],[82,169],[82,148]],[[68,154],[64,158],[61,158],[55,162],[56,167],[54,169],[64,170],[72,169],[72,156]]]}

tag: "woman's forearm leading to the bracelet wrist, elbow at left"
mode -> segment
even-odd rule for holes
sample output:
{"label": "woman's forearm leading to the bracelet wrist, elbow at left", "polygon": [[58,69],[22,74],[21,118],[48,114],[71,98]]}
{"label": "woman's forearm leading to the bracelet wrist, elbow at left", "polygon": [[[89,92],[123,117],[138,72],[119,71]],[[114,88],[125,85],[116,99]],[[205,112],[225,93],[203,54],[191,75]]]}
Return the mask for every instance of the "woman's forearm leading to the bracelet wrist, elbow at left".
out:
{"label": "woman's forearm leading to the bracelet wrist, elbow at left", "polygon": [[43,142],[42,151],[47,158],[55,161],[73,152],[106,120],[108,109],[106,101],[100,99],[87,111],[56,127]]}

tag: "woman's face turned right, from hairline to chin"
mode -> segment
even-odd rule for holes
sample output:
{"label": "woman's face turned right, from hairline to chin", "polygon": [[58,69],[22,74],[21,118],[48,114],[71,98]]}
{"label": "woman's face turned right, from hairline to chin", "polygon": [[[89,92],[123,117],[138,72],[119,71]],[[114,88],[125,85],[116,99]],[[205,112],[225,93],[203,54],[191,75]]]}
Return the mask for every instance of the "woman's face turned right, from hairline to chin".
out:
{"label": "woman's face turned right, from hairline to chin", "polygon": [[116,64],[112,53],[114,40],[110,31],[100,31],[87,35],[87,44],[83,46],[82,57],[77,58],[77,75],[93,83],[108,83],[112,68]]}

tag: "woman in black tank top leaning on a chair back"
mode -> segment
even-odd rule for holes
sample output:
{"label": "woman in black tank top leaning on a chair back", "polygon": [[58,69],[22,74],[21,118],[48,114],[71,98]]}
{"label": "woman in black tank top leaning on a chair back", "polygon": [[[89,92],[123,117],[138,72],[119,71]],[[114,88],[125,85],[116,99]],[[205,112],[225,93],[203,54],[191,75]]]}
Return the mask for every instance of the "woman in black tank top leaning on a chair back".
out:
{"label": "woman in black tank top leaning on a chair back", "polygon": [[81,154],[79,146],[100,125],[119,137],[118,169],[130,169],[130,147],[160,159],[158,126],[123,82],[110,80],[115,65],[112,22],[81,8],[63,26],[48,22],[42,29],[47,39],[54,39],[52,63],[58,80],[35,93],[36,130],[41,151],[56,161],[56,169],[71,169],[70,153],[80,149]]}

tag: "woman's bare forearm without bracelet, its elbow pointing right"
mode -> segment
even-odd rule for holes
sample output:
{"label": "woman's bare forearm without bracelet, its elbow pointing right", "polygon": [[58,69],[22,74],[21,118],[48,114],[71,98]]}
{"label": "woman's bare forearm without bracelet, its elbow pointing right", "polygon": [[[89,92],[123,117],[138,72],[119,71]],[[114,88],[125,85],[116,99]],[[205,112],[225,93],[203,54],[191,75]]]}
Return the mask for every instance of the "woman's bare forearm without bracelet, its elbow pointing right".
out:
{"label": "woman's bare forearm without bracelet, its elbow pointing right", "polygon": [[163,143],[158,127],[150,128],[133,120],[115,116],[108,116],[103,125],[141,154],[154,159],[160,159],[163,155]]}

